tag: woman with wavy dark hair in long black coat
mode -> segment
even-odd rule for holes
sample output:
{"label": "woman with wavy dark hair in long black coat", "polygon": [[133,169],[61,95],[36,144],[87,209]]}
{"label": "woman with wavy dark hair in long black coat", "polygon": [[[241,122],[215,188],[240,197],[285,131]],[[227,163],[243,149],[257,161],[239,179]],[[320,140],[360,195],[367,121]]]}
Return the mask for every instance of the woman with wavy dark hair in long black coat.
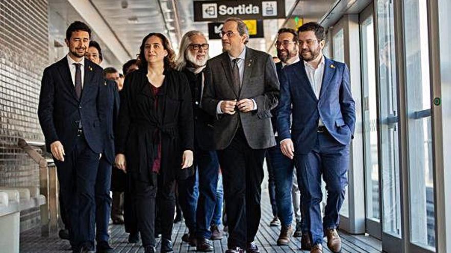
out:
{"label": "woman with wavy dark hair in long black coat", "polygon": [[155,199],[161,252],[172,252],[175,179],[193,173],[190,87],[185,75],[173,69],[174,51],[164,35],[147,35],[139,58],[139,70],[127,75],[121,94],[115,163],[134,183],[138,229],[146,252],[155,251]]}

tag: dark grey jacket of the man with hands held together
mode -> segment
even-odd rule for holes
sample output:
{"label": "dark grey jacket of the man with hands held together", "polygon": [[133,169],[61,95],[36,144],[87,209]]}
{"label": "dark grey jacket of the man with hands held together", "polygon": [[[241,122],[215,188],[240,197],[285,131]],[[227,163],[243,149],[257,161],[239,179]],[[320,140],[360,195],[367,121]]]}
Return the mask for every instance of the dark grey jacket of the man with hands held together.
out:
{"label": "dark grey jacket of the man with hands held together", "polygon": [[[227,52],[207,62],[209,77],[204,85],[202,108],[216,116],[213,128],[215,149],[227,148],[241,124],[249,146],[253,149],[276,145],[271,126],[270,110],[277,106],[279,81],[271,55],[246,49],[241,89],[237,94],[232,83],[232,66]],[[225,78],[224,78],[225,77]],[[254,99],[257,110],[237,111],[235,114],[217,114],[221,100]]]}

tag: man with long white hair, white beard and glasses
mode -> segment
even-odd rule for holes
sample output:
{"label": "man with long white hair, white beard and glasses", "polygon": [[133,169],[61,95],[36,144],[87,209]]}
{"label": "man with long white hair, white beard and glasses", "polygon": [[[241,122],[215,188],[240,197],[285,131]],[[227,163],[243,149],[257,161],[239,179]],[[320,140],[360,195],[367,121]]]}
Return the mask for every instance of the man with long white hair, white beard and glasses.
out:
{"label": "man with long white hair, white beard and glasses", "polygon": [[[176,61],[177,70],[184,72],[190,83],[195,126],[194,168],[198,169],[194,176],[178,181],[179,201],[189,228],[189,235],[184,235],[182,239],[196,245],[198,251],[213,251],[209,228],[215,210],[219,172],[218,157],[212,142],[213,116],[204,111],[200,103],[204,80],[208,75],[205,73],[208,49],[207,39],[201,32],[189,31],[182,37]],[[197,209],[196,174],[199,181]],[[214,232],[219,230],[216,228]]]}

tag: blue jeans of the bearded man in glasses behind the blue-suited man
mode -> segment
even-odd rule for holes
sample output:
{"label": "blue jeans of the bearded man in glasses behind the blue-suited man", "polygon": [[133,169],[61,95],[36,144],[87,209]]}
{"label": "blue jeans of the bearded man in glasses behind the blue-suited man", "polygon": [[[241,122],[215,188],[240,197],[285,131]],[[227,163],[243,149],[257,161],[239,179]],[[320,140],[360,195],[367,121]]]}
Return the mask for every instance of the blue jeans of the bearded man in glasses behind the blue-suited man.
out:
{"label": "blue jeans of the bearded man in glasses behind the blue-suited man", "polygon": [[[280,151],[279,140],[276,136],[277,145],[268,149],[267,164],[272,167],[274,174],[277,214],[282,226],[288,226],[293,222],[293,170],[294,162]],[[298,172],[298,169],[296,168]],[[297,173],[299,174],[299,173]],[[298,177],[299,182],[299,177]],[[302,194],[300,196],[300,206],[303,205]],[[302,210],[302,209],[301,209]],[[307,232],[306,220],[301,213],[302,232]]]}

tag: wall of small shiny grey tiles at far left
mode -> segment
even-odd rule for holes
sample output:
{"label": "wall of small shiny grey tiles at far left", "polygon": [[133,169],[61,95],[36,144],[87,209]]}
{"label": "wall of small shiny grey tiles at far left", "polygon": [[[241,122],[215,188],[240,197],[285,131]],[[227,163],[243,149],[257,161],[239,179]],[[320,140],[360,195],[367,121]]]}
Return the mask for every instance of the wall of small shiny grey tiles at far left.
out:
{"label": "wall of small shiny grey tiles at far left", "polygon": [[[49,65],[47,8],[47,0],[0,0],[0,186],[39,186],[39,167],[17,140],[44,140],[37,104]],[[21,231],[38,225],[38,212],[22,213]]]}

